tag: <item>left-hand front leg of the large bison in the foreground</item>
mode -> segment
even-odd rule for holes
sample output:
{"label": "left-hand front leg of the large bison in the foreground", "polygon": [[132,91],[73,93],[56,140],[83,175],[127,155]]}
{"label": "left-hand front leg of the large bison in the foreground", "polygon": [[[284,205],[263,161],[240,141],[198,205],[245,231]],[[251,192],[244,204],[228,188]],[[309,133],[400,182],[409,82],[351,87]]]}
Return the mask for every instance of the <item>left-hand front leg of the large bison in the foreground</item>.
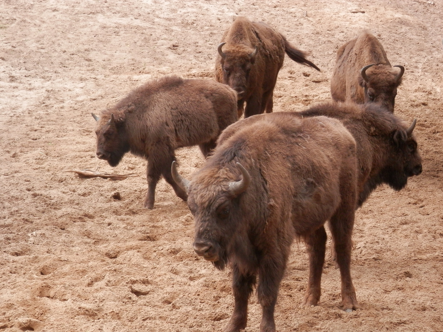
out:
{"label": "left-hand front leg of the large bison in the foreground", "polygon": [[255,284],[255,275],[244,275],[237,265],[232,266],[232,291],[234,312],[223,332],[238,332],[245,329],[248,321],[248,299]]}

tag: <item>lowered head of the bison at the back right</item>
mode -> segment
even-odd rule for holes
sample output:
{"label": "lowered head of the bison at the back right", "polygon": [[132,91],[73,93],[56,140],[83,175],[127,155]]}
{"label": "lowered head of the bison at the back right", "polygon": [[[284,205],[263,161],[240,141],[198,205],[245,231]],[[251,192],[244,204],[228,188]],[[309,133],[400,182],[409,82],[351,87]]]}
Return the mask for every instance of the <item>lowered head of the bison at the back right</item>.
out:
{"label": "lowered head of the bison at the back right", "polygon": [[395,96],[397,87],[401,84],[404,67],[394,66],[400,68],[400,73],[394,73],[390,66],[380,65],[367,74],[366,70],[374,65],[364,66],[358,77],[360,86],[365,90],[365,103],[378,103],[389,112],[394,112]]}

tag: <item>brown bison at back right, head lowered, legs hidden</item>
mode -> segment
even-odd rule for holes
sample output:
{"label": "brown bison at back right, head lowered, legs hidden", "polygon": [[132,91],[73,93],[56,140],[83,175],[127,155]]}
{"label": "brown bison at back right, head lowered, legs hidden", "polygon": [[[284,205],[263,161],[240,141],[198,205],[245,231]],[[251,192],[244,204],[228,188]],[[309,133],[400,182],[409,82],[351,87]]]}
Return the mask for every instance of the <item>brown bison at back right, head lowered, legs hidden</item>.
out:
{"label": "brown bison at back right, head lowered, legs hidden", "polygon": [[404,67],[396,72],[386,57],[383,46],[368,31],[337,50],[331,77],[331,95],[336,101],[379,103],[394,112],[397,86],[401,84]]}

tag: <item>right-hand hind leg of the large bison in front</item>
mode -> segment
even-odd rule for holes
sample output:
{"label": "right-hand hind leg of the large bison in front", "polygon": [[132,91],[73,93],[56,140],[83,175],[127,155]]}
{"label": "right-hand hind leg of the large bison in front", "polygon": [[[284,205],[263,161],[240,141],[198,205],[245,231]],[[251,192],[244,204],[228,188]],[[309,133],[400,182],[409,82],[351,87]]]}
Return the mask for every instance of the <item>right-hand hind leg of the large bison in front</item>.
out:
{"label": "right-hand hind leg of the large bison in front", "polygon": [[342,279],[343,310],[352,312],[352,309],[358,308],[350,269],[354,205],[338,208],[338,212],[330,220],[330,226],[334,238],[336,262],[340,268],[340,277]]}

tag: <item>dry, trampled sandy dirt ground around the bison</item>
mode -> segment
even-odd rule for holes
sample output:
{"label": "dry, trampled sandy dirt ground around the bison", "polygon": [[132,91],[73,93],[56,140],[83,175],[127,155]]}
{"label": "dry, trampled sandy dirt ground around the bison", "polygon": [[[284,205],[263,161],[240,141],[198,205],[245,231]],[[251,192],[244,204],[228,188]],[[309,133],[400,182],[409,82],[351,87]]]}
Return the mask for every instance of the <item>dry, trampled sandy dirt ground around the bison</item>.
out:
{"label": "dry, trampled sandy dirt ground around the bison", "polygon": [[[365,13],[351,13],[362,10]],[[299,307],[307,254],[293,245],[278,331],[443,331],[441,142],[443,1],[0,1],[0,331],[221,331],[233,310],[229,270],[192,250],[193,218],[163,180],[141,208],[146,162],[95,157],[90,112],[164,74],[213,79],[236,15],[283,32],[322,72],[286,58],[275,111],[330,98],[335,50],[364,28],[406,67],[396,114],[417,118],[423,174],[381,187],[358,210],[352,274],[361,308],[341,310],[329,259],[316,307]],[[304,74],[303,74],[304,73]],[[188,178],[197,148],[177,152]],[[136,173],[124,181],[65,170]],[[119,192],[121,200],[111,196]],[[246,331],[258,331],[250,300]]]}

